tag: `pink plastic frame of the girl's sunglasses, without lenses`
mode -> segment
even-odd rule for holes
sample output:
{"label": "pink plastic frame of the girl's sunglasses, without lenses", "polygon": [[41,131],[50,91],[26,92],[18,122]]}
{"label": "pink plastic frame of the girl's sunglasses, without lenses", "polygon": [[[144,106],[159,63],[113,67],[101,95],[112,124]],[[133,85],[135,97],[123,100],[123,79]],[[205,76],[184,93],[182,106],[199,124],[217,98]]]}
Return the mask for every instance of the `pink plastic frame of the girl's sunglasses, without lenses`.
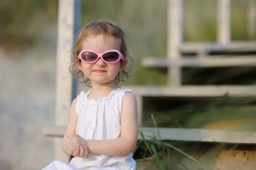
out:
{"label": "pink plastic frame of the girl's sunglasses, without lenses", "polygon": [[[98,55],[98,58],[97,58],[95,61],[92,61],[92,62],[84,61],[84,60],[82,59],[82,54],[83,54],[84,52],[93,52],[93,53],[95,53],[96,55]],[[102,55],[104,55],[104,54],[106,54],[106,53],[108,53],[108,52],[117,52],[117,53],[119,54],[119,58],[118,58],[116,61],[114,61],[114,62],[105,61],[105,60],[103,59]],[[83,61],[84,63],[87,63],[87,64],[95,63],[96,61],[99,60],[99,58],[102,58],[102,60],[103,60],[105,63],[109,63],[109,64],[117,63],[117,62],[120,61],[120,60],[124,61],[124,56],[122,55],[121,52],[119,52],[119,51],[116,50],[116,49],[111,49],[111,50],[108,50],[108,51],[103,52],[103,53],[97,53],[97,52],[95,52],[95,51],[93,51],[93,50],[84,49],[84,50],[82,50],[82,51],[79,53],[79,56],[78,56],[78,59],[79,59],[79,60],[81,60],[81,61]]]}

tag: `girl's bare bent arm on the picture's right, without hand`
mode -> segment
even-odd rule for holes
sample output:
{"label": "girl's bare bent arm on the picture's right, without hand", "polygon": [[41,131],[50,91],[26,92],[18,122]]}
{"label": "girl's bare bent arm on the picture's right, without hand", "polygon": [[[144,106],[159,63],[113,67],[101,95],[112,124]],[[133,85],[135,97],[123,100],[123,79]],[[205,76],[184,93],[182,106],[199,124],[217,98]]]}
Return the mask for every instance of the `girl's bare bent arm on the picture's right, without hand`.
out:
{"label": "girl's bare bent arm on the picture's right, without hand", "polygon": [[138,111],[135,96],[127,92],[122,100],[121,137],[109,140],[85,140],[91,153],[121,156],[132,153],[138,141]]}

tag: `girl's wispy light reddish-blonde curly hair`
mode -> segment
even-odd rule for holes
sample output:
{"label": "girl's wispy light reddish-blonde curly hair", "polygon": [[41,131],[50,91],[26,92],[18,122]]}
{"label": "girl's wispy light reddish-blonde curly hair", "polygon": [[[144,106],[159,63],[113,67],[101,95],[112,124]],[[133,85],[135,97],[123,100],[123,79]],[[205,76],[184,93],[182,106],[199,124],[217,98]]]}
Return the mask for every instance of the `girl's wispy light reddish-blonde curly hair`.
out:
{"label": "girl's wispy light reddish-blonde curly hair", "polygon": [[[90,87],[90,79],[86,78],[84,76],[84,73],[78,68],[78,65],[80,64],[80,60],[78,60],[78,55],[82,50],[83,41],[87,37],[91,36],[97,36],[97,35],[103,35],[105,36],[113,36],[116,39],[120,40],[120,52],[125,58],[125,61],[127,63],[130,63],[129,65],[126,64],[124,69],[121,72],[118,72],[116,75],[115,83],[119,84],[121,81],[125,82],[127,78],[129,77],[129,72],[132,66],[132,60],[131,57],[128,54],[127,49],[127,43],[126,43],[126,36],[125,33],[122,31],[122,29],[114,24],[111,21],[107,20],[98,20],[92,23],[89,23],[85,26],[83,26],[78,34],[78,37],[76,39],[75,47],[71,51],[72,52],[72,64],[69,67],[70,73],[77,79],[82,79],[80,83],[86,84],[86,86]],[[123,66],[123,61],[121,61],[121,65]],[[129,66],[129,68],[128,68]]]}

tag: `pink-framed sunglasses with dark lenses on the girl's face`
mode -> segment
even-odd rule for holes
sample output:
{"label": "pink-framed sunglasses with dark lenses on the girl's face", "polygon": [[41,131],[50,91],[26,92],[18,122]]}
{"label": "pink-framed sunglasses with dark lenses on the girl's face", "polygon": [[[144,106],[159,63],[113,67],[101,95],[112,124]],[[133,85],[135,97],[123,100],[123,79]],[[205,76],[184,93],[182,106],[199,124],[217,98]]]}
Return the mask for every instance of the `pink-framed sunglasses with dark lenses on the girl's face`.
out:
{"label": "pink-framed sunglasses with dark lenses on the girl's face", "polygon": [[78,58],[88,64],[96,62],[99,58],[110,64],[117,63],[119,60],[124,61],[124,56],[116,49],[108,50],[101,54],[85,49],[80,52]]}

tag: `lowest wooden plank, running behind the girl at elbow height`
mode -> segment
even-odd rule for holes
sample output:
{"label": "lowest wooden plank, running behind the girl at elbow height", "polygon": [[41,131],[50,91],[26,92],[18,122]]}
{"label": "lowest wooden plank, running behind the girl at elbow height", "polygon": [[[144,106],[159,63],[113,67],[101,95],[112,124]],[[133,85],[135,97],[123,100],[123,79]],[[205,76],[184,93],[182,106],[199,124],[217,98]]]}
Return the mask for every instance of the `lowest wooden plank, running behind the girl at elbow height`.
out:
{"label": "lowest wooden plank, running behind the girl at elbow height", "polygon": [[[62,127],[45,127],[43,134],[46,136],[63,137],[65,133]],[[230,131],[230,130],[207,130],[207,129],[182,129],[182,128],[142,128],[144,135],[171,141],[198,141],[198,142],[223,142],[223,143],[241,143],[255,144],[256,132],[251,131]],[[139,137],[140,139],[140,137]],[[151,138],[146,138],[150,140]]]}

